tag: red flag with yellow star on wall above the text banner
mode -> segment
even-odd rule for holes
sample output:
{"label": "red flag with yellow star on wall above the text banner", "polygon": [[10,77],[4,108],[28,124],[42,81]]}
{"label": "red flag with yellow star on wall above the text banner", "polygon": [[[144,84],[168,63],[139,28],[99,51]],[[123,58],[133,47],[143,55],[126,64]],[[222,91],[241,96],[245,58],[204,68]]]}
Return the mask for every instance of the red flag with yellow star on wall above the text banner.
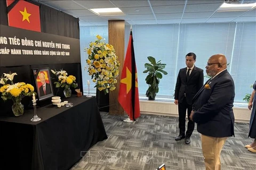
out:
{"label": "red flag with yellow star on wall above the text banner", "polygon": [[7,0],[9,26],[41,32],[39,6],[23,0]]}

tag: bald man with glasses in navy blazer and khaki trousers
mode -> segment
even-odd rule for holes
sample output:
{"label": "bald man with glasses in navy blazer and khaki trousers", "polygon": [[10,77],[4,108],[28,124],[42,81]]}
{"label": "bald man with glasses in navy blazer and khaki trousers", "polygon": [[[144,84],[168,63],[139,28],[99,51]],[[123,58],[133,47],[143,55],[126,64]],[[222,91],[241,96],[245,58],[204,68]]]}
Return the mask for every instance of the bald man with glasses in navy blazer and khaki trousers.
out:
{"label": "bald man with glasses in navy blazer and khaki trousers", "polygon": [[235,85],[227,71],[227,59],[223,54],[211,56],[206,65],[211,79],[193,98],[190,119],[197,123],[201,133],[205,167],[220,169],[220,152],[227,137],[234,135],[233,103]]}

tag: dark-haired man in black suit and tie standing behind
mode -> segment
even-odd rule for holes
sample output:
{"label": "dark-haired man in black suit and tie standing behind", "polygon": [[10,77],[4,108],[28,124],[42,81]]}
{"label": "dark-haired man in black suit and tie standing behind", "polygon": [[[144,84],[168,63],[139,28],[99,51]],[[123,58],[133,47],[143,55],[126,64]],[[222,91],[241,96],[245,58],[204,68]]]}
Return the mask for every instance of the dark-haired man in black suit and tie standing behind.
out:
{"label": "dark-haired man in black suit and tie standing behind", "polygon": [[[175,140],[181,140],[186,137],[185,143],[190,143],[190,136],[194,131],[195,122],[191,121],[189,116],[192,111],[192,99],[197,91],[203,86],[203,70],[195,66],[196,54],[188,53],[186,55],[187,67],[180,69],[175,87],[174,103],[179,109],[179,136]],[[186,111],[188,111],[188,129],[186,130]]]}

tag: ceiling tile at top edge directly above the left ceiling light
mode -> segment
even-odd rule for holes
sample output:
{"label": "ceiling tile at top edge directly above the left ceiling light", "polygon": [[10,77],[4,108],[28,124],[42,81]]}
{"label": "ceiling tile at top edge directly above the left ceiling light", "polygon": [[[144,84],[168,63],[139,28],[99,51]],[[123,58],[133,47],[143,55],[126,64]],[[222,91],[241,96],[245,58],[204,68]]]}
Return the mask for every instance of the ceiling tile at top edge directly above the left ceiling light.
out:
{"label": "ceiling tile at top edge directly above the left ceiling light", "polygon": [[116,7],[109,1],[75,1],[77,4],[80,4],[86,8],[108,8],[108,7]]}

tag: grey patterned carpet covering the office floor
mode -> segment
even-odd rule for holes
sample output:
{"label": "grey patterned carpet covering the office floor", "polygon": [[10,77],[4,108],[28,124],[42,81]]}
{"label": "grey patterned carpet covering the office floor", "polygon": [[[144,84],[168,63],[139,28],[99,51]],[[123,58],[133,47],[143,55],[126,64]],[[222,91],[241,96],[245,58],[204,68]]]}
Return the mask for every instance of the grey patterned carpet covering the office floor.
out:
{"label": "grey patterned carpet covering the office floor", "polygon": [[[196,131],[191,143],[175,141],[179,133],[178,117],[143,114],[132,123],[126,117],[101,113],[108,139],[98,142],[71,170],[155,170],[165,163],[166,169],[203,170],[204,158],[200,135]],[[221,169],[255,170],[256,154],[244,148],[252,142],[247,138],[249,123],[235,123],[235,138],[230,137],[221,152]]]}

